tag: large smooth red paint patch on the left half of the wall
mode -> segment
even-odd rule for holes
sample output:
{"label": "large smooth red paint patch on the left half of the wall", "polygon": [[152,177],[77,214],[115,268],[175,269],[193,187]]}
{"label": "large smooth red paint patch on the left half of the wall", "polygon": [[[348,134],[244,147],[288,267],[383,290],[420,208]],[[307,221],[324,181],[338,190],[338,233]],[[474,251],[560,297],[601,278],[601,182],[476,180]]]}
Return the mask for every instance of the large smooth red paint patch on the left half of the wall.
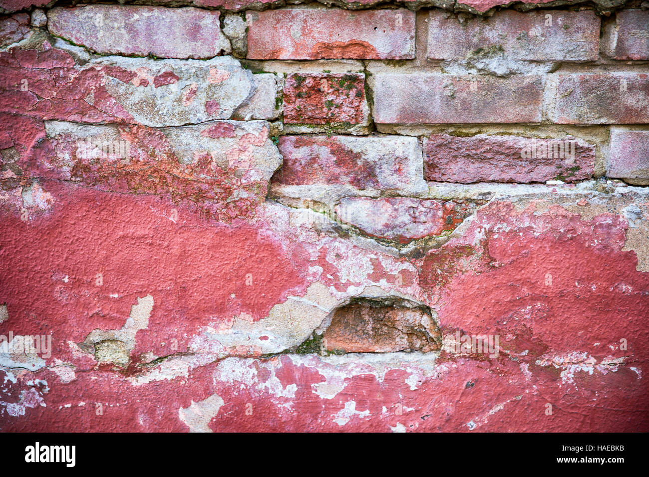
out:
{"label": "large smooth red paint patch on the left half of the wall", "polygon": [[154,308],[149,329],[138,332],[136,352],[166,356],[173,354],[169,340],[186,349],[210,317],[261,319],[302,284],[298,257],[289,260],[276,239],[250,226],[208,225],[185,206],[150,196],[56,182],[45,188],[56,196],[49,216],[25,223],[3,214],[0,300],[14,333],[49,330],[53,354],[67,362],[77,361],[67,341],[80,343],[96,328],[121,328],[137,296],[151,293]]}

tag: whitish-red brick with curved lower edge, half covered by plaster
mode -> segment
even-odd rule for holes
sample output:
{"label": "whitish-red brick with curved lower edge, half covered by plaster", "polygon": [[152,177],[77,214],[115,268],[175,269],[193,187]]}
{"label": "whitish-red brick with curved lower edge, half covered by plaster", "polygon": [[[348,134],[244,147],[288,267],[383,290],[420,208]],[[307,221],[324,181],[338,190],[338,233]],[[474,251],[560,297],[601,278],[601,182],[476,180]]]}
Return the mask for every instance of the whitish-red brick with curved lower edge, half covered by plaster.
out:
{"label": "whitish-red brick with curved lower edge, half covered by plaster", "polygon": [[369,236],[408,243],[454,230],[471,209],[471,204],[463,201],[345,197],[337,216]]}

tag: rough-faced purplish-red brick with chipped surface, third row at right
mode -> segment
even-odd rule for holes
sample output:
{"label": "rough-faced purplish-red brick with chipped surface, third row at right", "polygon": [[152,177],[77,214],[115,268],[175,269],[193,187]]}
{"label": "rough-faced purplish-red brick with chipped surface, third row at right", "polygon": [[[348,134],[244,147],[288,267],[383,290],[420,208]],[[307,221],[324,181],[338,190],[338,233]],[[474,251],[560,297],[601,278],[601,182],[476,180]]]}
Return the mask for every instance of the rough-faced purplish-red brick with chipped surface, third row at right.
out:
{"label": "rough-faced purplish-red brick with chipped surface, third row at right", "polygon": [[424,177],[439,182],[572,182],[589,178],[595,147],[560,140],[432,134],[424,140]]}

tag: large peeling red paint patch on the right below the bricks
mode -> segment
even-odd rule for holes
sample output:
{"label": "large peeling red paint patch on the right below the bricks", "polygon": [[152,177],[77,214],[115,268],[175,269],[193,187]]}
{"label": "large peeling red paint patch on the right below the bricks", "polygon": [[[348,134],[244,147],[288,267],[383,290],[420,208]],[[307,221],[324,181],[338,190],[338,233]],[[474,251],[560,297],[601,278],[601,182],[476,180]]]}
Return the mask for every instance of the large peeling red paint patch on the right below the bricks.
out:
{"label": "large peeling red paint patch on the right below the bricks", "polygon": [[[554,350],[644,361],[649,276],[636,271],[634,252],[622,251],[626,228],[611,214],[584,220],[558,206],[538,214],[535,204],[517,212],[492,202],[462,239],[424,258],[422,285],[439,289],[443,329],[507,337],[505,349],[529,351],[521,360]],[[621,351],[620,339],[633,349]]]}

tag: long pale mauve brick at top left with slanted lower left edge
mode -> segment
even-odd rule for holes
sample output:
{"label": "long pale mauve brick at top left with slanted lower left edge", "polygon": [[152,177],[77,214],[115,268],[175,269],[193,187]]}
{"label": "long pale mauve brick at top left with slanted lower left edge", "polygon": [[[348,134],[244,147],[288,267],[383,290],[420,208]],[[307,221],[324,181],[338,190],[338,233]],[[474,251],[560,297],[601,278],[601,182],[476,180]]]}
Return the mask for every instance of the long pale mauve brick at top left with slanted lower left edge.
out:
{"label": "long pale mauve brick at top left with slanted lower left edge", "polygon": [[219,15],[193,7],[86,5],[49,10],[47,27],[104,55],[212,58],[230,53]]}

